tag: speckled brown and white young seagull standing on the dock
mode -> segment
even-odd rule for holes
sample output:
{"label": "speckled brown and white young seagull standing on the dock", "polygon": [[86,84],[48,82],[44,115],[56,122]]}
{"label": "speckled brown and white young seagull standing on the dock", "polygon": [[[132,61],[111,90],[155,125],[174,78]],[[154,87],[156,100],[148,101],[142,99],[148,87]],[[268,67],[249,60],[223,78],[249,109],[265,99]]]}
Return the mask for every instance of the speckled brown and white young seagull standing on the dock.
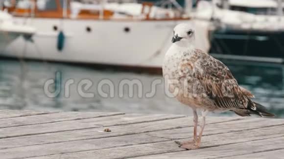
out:
{"label": "speckled brown and white young seagull standing on the dock", "polygon": [[[179,142],[179,147],[198,149],[205,118],[212,111],[233,111],[239,116],[274,117],[252,98],[254,95],[238,85],[229,68],[221,61],[194,47],[195,30],[191,23],[181,23],[173,30],[172,44],[163,62],[163,77],[169,92],[193,110],[193,139]],[[203,124],[197,136],[198,115]]]}

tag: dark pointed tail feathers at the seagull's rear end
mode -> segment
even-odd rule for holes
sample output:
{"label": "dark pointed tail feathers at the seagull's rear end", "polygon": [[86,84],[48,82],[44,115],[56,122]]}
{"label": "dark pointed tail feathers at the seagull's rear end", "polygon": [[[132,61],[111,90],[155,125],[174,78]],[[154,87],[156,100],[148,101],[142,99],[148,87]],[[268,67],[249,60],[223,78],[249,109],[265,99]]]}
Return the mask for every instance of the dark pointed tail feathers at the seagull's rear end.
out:
{"label": "dark pointed tail feathers at the seagull's rear end", "polygon": [[235,112],[237,115],[245,117],[245,116],[251,116],[251,114],[256,114],[260,117],[275,117],[274,114],[269,113],[268,110],[263,106],[260,105],[257,102],[250,102],[249,104],[252,105],[248,105],[247,109],[243,109],[243,108],[235,108],[232,109],[231,111]]}

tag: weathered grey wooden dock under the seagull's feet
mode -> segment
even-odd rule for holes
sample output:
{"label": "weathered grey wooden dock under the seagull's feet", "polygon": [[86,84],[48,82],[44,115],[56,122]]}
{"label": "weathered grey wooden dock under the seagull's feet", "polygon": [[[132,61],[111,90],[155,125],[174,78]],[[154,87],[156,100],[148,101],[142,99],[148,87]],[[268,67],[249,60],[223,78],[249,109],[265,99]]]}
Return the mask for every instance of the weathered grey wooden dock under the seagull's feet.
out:
{"label": "weathered grey wooden dock under the seagull's feet", "polygon": [[[284,159],[284,119],[208,117],[201,148],[192,117],[0,110],[0,159]],[[105,132],[109,129],[111,132]]]}

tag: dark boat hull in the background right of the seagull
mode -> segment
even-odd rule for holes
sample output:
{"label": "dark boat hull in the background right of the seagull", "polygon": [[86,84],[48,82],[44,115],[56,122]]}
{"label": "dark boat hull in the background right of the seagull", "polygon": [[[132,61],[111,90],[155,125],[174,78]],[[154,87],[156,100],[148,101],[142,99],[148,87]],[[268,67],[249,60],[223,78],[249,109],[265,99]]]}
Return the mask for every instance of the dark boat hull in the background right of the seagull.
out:
{"label": "dark boat hull in the background right of the seagull", "polygon": [[209,52],[220,59],[283,63],[284,31],[216,30]]}

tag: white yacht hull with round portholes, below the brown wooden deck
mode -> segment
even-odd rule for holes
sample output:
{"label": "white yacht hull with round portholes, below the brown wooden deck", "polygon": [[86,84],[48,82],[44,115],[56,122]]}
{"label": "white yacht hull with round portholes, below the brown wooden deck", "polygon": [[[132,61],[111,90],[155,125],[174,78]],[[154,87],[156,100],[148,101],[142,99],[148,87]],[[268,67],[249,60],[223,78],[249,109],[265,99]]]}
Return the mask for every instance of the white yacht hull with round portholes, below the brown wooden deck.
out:
{"label": "white yacht hull with round portholes, below the brown wooden deck", "polygon": [[[18,38],[1,54],[34,60],[161,67],[172,29],[189,20],[71,20],[15,18],[36,28],[33,42]],[[206,25],[206,24],[205,24]],[[62,50],[58,35],[63,31]],[[207,41],[206,29],[200,41]],[[61,37],[62,39],[62,37]],[[208,42],[207,42],[208,43]],[[200,44],[208,49],[209,44]]]}

